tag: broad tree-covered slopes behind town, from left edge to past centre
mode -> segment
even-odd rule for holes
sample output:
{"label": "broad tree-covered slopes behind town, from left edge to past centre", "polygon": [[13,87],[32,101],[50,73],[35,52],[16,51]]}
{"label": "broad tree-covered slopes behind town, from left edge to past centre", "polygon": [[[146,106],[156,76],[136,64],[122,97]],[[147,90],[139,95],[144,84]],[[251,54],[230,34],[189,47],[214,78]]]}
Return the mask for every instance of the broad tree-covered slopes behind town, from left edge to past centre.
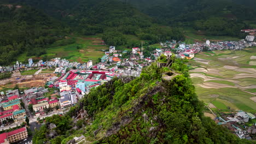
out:
{"label": "broad tree-covered slopes behind town, from left edge to past centre", "polygon": [[14,62],[22,53],[43,55],[50,44],[71,33],[102,34],[106,44],[126,47],[140,44],[138,39],[149,44],[184,39],[179,28],[161,26],[131,5],[115,0],[10,0],[0,4],[0,65]]}

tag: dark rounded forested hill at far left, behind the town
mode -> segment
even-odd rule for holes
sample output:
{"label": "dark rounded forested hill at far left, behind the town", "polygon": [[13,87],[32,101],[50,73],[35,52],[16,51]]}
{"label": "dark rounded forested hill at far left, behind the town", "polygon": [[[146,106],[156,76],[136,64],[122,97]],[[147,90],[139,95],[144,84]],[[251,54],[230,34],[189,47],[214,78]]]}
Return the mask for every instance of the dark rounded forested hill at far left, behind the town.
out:
{"label": "dark rounded forested hill at far left, behind the town", "polygon": [[42,55],[63,32],[60,22],[24,5],[0,5],[0,65],[16,60],[20,53]]}

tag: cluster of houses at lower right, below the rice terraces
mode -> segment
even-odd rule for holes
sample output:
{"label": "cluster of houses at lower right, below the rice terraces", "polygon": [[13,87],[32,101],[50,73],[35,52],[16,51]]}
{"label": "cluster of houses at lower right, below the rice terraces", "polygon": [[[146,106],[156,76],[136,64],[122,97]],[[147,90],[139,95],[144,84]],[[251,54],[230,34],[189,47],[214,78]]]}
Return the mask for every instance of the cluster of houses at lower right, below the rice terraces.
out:
{"label": "cluster of houses at lower right, below the rice terraces", "polygon": [[231,131],[234,131],[240,139],[251,140],[251,136],[256,134],[256,123],[247,127],[245,123],[248,123],[250,119],[255,119],[255,115],[249,112],[237,111],[228,115],[223,114],[215,120],[219,125],[225,125]]}

